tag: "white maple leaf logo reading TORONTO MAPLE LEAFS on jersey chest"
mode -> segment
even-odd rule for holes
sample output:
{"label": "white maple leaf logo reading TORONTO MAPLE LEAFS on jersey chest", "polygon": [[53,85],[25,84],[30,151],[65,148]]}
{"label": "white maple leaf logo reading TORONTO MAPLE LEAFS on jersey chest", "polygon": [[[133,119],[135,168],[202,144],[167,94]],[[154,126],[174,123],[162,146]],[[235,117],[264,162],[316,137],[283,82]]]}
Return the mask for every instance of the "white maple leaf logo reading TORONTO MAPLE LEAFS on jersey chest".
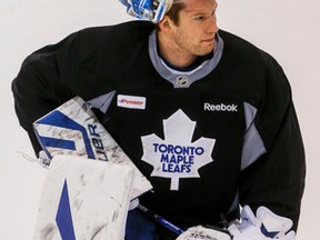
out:
{"label": "white maple leaf logo reading TORONTO MAPLE LEAFS on jersey chest", "polygon": [[171,178],[170,190],[179,190],[180,178],[200,178],[198,170],[213,161],[216,139],[191,142],[196,121],[179,109],[163,120],[164,140],[154,133],[141,137],[142,161],[153,166],[151,177]]}

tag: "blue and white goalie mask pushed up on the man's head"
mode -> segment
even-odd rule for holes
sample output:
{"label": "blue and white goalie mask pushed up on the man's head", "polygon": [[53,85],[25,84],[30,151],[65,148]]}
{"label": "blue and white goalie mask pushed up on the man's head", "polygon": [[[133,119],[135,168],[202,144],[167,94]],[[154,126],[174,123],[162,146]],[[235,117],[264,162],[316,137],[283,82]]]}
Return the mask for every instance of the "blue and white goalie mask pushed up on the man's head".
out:
{"label": "blue and white goalie mask pushed up on the man's head", "polygon": [[119,0],[127,7],[127,13],[154,23],[162,20],[173,0]]}

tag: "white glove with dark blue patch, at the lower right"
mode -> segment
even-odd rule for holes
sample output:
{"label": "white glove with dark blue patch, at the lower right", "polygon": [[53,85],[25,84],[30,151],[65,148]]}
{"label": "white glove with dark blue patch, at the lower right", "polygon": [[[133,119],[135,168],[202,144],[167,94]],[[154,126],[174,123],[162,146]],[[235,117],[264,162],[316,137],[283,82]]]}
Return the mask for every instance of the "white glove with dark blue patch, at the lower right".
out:
{"label": "white glove with dark blue patch, at the lower right", "polygon": [[240,222],[231,224],[228,230],[233,240],[294,240],[294,231],[289,231],[291,227],[290,219],[277,216],[266,207],[258,208],[254,216],[250,207],[244,206]]}

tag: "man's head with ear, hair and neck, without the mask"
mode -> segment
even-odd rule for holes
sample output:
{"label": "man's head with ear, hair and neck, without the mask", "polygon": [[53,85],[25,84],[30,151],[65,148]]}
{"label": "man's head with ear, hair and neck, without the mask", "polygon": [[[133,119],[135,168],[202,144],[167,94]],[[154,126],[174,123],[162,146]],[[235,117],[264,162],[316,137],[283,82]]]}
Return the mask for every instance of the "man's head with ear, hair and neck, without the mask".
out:
{"label": "man's head with ear, hair and neck, without the mask", "polygon": [[218,31],[216,0],[179,0],[158,23],[161,54],[177,67],[212,52]]}

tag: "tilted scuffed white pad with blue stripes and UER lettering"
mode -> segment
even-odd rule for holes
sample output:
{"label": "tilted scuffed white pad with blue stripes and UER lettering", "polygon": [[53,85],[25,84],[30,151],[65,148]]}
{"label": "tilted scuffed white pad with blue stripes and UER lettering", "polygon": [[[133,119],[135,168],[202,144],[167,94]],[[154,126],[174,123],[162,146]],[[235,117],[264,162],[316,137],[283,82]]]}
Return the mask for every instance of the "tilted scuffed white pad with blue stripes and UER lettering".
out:
{"label": "tilted scuffed white pad with blue stripes and UER lettering", "polygon": [[131,199],[152,189],[81,98],[76,97],[40,118],[33,128],[49,158],[59,154],[78,156],[131,166],[134,169]]}

